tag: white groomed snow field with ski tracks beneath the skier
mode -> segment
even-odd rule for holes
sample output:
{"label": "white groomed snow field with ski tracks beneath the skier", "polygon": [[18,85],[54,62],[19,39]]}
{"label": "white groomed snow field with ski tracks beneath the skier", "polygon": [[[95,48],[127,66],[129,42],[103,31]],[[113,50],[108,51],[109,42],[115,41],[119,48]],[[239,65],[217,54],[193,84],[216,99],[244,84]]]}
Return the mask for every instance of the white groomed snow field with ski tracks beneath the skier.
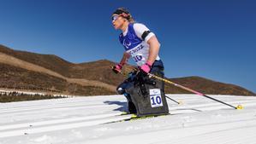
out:
{"label": "white groomed snow field with ski tracks beneath the skier", "polygon": [[122,95],[0,103],[0,144],[256,144],[256,97],[168,96],[170,115],[116,123]]}

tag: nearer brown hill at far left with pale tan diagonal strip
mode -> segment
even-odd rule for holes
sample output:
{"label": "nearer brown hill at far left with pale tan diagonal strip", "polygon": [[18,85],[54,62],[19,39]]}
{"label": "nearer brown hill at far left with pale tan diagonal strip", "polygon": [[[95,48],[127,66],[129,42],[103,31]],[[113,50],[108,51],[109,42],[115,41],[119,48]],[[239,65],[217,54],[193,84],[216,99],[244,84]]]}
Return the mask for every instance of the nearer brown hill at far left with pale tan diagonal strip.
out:
{"label": "nearer brown hill at far left with pale tan diagonal strip", "polygon": [[0,61],[2,81],[5,78],[2,88],[44,89],[73,95],[115,94],[116,86],[81,78],[80,73],[86,71],[83,67],[55,55],[16,51],[0,45]]}

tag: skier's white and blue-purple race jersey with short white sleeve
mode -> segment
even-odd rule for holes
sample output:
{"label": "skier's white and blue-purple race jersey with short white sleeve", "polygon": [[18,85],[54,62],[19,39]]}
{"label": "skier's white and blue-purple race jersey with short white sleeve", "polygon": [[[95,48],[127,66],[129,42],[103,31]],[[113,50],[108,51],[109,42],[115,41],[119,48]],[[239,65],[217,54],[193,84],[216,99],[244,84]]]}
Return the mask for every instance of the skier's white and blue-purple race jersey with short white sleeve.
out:
{"label": "skier's white and blue-purple race jersey with short white sleeve", "polygon": [[[126,52],[134,58],[138,66],[146,63],[149,56],[149,44],[147,41],[155,34],[150,32],[145,40],[142,40],[142,34],[149,29],[140,23],[130,23],[125,32],[119,36],[120,43],[124,46]],[[160,60],[157,56],[156,60]]]}

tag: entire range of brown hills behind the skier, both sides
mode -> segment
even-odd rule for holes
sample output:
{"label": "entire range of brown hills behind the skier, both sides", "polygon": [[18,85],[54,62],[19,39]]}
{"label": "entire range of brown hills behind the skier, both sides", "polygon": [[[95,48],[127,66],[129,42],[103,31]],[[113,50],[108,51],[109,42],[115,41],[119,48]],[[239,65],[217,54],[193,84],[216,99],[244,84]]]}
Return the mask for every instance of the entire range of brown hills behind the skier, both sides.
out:
{"label": "entire range of brown hills behind the skier, both sides", "polygon": [[[116,85],[124,80],[122,75],[111,72],[110,60],[74,64],[56,55],[40,55],[9,49],[0,45],[0,88],[34,89],[72,95],[116,94]],[[125,67],[127,70],[132,66]],[[172,78],[205,94],[255,95],[234,84],[223,84],[206,78]],[[166,93],[187,93],[170,84]]]}

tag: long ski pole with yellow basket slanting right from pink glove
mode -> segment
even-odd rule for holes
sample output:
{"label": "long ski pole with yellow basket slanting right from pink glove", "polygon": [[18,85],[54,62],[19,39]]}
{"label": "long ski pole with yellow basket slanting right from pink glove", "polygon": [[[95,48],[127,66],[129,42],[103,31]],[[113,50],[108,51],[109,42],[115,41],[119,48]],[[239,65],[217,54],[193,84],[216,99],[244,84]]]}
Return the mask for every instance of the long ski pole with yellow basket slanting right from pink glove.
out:
{"label": "long ski pole with yellow basket slanting right from pink glove", "polygon": [[208,95],[199,93],[198,91],[195,91],[195,90],[193,90],[193,89],[189,89],[189,88],[184,87],[184,86],[182,86],[182,85],[180,85],[180,84],[173,83],[173,82],[171,82],[170,80],[167,80],[167,79],[165,79],[165,78],[160,78],[160,77],[158,77],[158,76],[156,76],[156,75],[153,75],[152,73],[148,73],[148,76],[150,76],[150,77],[152,77],[152,78],[157,78],[157,79],[162,80],[162,81],[164,81],[165,83],[168,83],[168,84],[173,84],[173,85],[175,85],[176,87],[179,87],[179,88],[181,88],[181,89],[188,90],[188,91],[192,92],[193,94],[205,96],[205,97],[208,98],[208,99],[211,99],[211,100],[213,100],[213,101],[220,102],[220,103],[222,103],[222,104],[224,104],[224,105],[226,105],[226,106],[233,107],[233,108],[235,108],[235,109],[243,109],[243,107],[242,107],[241,105],[238,105],[237,107],[234,107],[234,106],[232,106],[232,105],[229,105],[229,104],[226,103],[226,102],[219,101],[219,100],[214,99],[214,98],[212,98],[212,97],[210,97],[210,96],[208,96]]}

